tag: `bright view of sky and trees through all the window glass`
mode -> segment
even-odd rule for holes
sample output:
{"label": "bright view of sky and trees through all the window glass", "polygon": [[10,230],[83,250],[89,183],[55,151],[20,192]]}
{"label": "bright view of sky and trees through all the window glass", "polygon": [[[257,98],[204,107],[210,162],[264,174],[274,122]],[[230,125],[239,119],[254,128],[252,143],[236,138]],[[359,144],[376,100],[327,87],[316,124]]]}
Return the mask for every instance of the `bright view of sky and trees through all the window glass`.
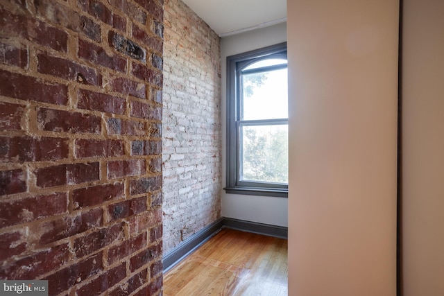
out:
{"label": "bright view of sky and trees through all the window glass", "polygon": [[[278,61],[282,64],[282,60]],[[270,64],[276,64],[276,61],[263,60],[247,69]],[[288,123],[248,123],[288,118],[287,69],[246,73],[242,79],[241,120],[245,124],[241,124],[239,131],[242,147],[239,179],[288,184]]]}

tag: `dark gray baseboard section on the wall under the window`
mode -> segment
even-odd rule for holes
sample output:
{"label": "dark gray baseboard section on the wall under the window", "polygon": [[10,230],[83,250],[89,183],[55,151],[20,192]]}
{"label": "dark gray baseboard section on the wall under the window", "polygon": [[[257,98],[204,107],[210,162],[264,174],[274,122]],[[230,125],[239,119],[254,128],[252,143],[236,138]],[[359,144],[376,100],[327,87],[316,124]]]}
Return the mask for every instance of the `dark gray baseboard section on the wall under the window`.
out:
{"label": "dark gray baseboard section on the wall under the window", "polygon": [[223,227],[284,239],[287,239],[289,236],[288,227],[268,225],[264,223],[238,220],[233,218],[223,218]]}

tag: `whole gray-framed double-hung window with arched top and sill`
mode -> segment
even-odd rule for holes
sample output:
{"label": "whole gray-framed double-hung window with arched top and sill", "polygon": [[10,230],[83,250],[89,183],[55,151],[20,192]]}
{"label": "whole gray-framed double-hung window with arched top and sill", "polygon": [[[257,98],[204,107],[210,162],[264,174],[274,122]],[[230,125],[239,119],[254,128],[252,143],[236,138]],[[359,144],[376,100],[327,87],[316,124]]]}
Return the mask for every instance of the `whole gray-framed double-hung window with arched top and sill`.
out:
{"label": "whole gray-framed double-hung window with arched top and sill", "polygon": [[227,58],[228,193],[288,195],[287,43]]}

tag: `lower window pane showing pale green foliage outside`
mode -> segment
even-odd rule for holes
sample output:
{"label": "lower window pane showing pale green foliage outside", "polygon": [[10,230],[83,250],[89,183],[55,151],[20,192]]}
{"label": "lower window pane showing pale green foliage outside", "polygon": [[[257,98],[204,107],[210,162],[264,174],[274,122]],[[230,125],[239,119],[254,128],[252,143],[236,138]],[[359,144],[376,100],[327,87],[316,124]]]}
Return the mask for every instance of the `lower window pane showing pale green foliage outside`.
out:
{"label": "lower window pane showing pale green foliage outside", "polygon": [[289,182],[288,125],[241,125],[239,180]]}

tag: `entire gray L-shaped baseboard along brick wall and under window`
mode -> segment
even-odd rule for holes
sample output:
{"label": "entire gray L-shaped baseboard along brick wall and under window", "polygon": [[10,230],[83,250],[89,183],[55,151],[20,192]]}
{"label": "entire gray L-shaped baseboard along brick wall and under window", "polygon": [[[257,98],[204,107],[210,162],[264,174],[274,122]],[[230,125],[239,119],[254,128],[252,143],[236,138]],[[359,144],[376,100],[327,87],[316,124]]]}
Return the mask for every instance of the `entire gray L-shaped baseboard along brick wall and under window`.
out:
{"label": "entire gray L-shaped baseboard along brick wall and under window", "polygon": [[266,236],[275,236],[278,238],[288,237],[288,228],[282,226],[268,225],[263,223],[250,222],[245,220],[238,220],[233,218],[220,218],[214,223],[201,229],[196,234],[193,234],[186,241],[180,243],[171,252],[166,254],[163,258],[164,272],[167,272],[174,265],[179,263],[186,256],[194,252],[200,245],[205,243],[214,234],[223,228],[231,228],[241,230],[243,232],[253,232],[255,234],[263,234]]}

